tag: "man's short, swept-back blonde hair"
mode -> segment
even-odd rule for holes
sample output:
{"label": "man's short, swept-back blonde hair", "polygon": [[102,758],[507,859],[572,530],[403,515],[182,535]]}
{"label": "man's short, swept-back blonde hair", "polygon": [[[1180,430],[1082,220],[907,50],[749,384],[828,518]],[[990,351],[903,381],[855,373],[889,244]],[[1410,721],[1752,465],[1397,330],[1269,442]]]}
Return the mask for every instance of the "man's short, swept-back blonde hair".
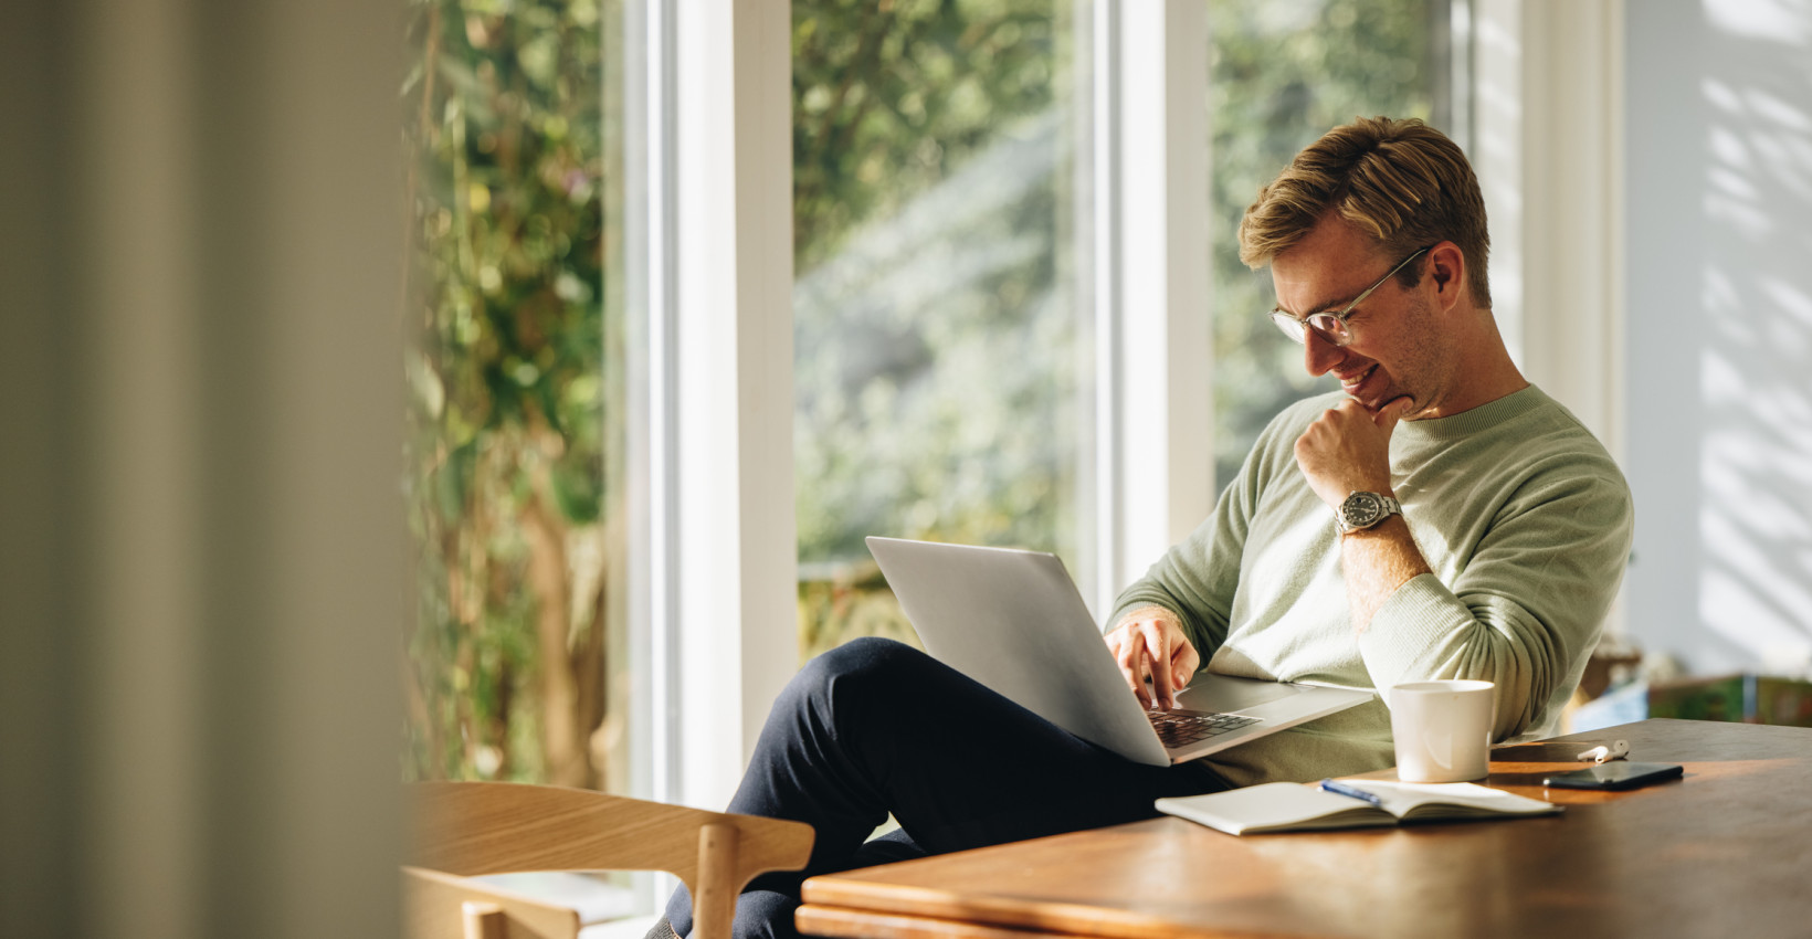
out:
{"label": "man's short, swept-back blonde hair", "polygon": [[[1484,196],[1466,154],[1441,131],[1415,118],[1354,118],[1328,131],[1258,190],[1239,219],[1239,259],[1268,265],[1328,212],[1375,237],[1388,257],[1453,241],[1466,256],[1473,303],[1491,306]],[[1397,277],[1412,286],[1421,270],[1410,265]]]}

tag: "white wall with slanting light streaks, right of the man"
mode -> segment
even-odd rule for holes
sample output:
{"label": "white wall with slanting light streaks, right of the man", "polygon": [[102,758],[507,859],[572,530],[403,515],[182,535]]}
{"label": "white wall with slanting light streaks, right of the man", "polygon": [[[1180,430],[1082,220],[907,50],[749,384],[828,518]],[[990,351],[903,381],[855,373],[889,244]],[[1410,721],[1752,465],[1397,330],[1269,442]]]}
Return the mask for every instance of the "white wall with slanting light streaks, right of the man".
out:
{"label": "white wall with slanting light streaks, right of the man", "polygon": [[1812,2],[1649,0],[1625,34],[1629,634],[1694,673],[1788,669],[1812,649]]}

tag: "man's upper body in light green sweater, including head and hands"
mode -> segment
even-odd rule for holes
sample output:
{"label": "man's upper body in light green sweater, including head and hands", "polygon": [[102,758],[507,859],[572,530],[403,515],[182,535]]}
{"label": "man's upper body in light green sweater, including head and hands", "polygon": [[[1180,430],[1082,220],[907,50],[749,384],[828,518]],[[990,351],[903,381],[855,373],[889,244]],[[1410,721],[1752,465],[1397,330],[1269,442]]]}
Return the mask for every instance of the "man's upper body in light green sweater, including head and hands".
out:
{"label": "man's upper body in light green sweater, including head and hands", "polygon": [[[1497,740],[1555,729],[1629,555],[1609,455],[1517,372],[1491,317],[1484,201],[1421,121],[1359,120],[1303,150],[1239,225],[1270,314],[1341,393],[1261,435],[1214,517],[1120,598],[1109,645],[1165,698],[1227,674],[1497,683]],[[1348,499],[1401,513],[1339,533]],[[1248,785],[1392,763],[1383,702],[1210,758]]]}

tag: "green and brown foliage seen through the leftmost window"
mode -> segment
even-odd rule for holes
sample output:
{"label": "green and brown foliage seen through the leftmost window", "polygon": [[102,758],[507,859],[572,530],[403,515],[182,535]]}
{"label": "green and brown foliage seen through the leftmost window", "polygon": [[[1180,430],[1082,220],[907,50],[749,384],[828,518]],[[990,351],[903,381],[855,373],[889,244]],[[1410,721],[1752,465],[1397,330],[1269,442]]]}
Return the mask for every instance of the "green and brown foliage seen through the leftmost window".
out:
{"label": "green and brown foliage seen through the leftmost window", "polygon": [[[565,560],[620,459],[598,20],[598,0],[410,4],[411,778],[545,778],[540,680],[602,629]],[[538,624],[569,605],[551,662]]]}

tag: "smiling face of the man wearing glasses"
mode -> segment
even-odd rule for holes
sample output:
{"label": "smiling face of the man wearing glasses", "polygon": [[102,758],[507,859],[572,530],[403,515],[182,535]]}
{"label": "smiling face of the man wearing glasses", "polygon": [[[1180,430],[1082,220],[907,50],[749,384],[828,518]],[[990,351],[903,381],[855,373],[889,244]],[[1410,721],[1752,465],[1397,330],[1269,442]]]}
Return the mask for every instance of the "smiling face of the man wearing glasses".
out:
{"label": "smiling face of the man wearing glasses", "polygon": [[[1277,306],[1297,319],[1335,312],[1377,283],[1402,257],[1386,257],[1375,241],[1339,218],[1325,218],[1308,237],[1272,257]],[[1417,257],[1404,270],[1424,270]],[[1406,419],[1439,417],[1453,382],[1453,355],[1428,294],[1428,276],[1415,288],[1390,277],[1352,310],[1352,341],[1335,346],[1308,330],[1303,364],[1310,375],[1334,373],[1341,390],[1366,410],[1408,397]]]}

